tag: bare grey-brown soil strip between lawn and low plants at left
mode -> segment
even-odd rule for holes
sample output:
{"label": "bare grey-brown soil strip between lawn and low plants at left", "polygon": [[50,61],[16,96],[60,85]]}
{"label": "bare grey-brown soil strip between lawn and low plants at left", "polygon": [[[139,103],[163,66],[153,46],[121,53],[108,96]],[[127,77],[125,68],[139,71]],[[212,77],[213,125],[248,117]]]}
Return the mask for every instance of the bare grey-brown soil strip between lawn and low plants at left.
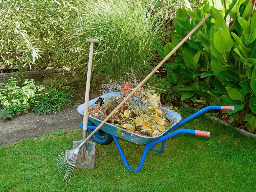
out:
{"label": "bare grey-brown soil strip between lawn and low plants at left", "polygon": [[[95,97],[92,96],[90,99]],[[75,104],[71,107],[51,115],[37,116],[31,111],[12,120],[0,120],[0,146],[44,133],[79,127],[83,116],[77,112],[77,107],[82,103],[84,103],[84,94],[81,93],[75,95]]]}

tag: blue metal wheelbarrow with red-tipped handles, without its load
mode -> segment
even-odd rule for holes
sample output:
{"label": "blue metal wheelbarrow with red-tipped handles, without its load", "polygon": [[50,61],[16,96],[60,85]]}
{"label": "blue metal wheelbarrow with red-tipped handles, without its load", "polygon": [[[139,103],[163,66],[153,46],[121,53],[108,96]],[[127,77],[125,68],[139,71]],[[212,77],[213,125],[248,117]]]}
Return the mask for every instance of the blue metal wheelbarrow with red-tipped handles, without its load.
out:
{"label": "blue metal wheelbarrow with red-tipped handles, without its load", "polygon": [[[113,92],[113,93],[108,93],[105,95],[102,95],[101,97],[107,97],[107,96],[114,96],[114,95],[118,95],[119,93],[117,92]],[[92,99],[91,101],[89,101],[89,107],[95,105],[96,101],[99,99],[99,97]],[[180,114],[178,114],[177,112],[174,112],[168,108],[164,108],[161,107],[162,109],[166,109],[166,116],[168,116],[170,118],[170,120],[174,121],[174,124],[169,128],[166,129],[161,135],[158,136],[143,136],[143,135],[138,135],[136,133],[127,131],[125,129],[120,130],[119,134],[117,133],[117,129],[119,129],[119,127],[116,127],[110,123],[105,123],[91,138],[92,140],[94,140],[94,142],[98,143],[98,144],[102,144],[102,145],[108,145],[110,144],[113,140],[117,146],[117,149],[123,159],[123,162],[125,164],[125,166],[133,171],[133,172],[138,172],[141,170],[141,168],[143,167],[144,161],[146,159],[146,155],[148,153],[149,150],[152,150],[154,152],[158,152],[161,153],[164,151],[165,148],[165,141],[171,137],[174,137],[176,135],[179,135],[181,133],[187,133],[187,134],[192,134],[192,135],[198,135],[198,136],[204,136],[204,137],[210,137],[210,133],[207,131],[199,131],[199,130],[193,130],[193,129],[177,129],[176,131],[173,131],[174,129],[176,129],[177,127],[183,125],[184,123],[186,123],[187,121],[192,120],[193,118],[203,114],[204,112],[211,110],[211,109],[215,109],[215,110],[234,110],[234,106],[207,106],[203,109],[201,109],[200,111],[192,114],[191,116],[185,118],[184,120],[181,120],[181,116]],[[80,114],[83,115],[84,113],[84,104],[81,104],[80,106],[78,106],[77,108],[78,112]],[[98,120],[94,117],[88,116],[88,127],[87,127],[87,131],[88,134],[92,133],[92,131],[94,129],[96,129],[96,127],[101,123],[101,120]],[[80,125],[80,127],[82,128],[82,124]],[[170,133],[170,131],[173,131]],[[138,168],[133,169],[129,166],[128,161],[123,153],[123,150],[117,140],[117,137],[127,140],[129,142],[133,142],[136,144],[144,144],[145,148],[144,148],[144,152],[143,155],[141,157],[141,161],[139,163]],[[162,143],[161,149],[157,150],[154,149],[154,146],[158,143]]]}

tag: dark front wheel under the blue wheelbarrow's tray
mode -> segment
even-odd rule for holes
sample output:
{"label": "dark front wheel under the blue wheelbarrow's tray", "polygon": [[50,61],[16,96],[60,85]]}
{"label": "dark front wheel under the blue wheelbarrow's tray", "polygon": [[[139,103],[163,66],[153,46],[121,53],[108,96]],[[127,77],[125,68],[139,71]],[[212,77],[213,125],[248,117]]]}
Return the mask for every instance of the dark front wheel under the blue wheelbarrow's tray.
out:
{"label": "dark front wheel under the blue wheelbarrow's tray", "polygon": [[[94,125],[94,123],[89,122],[90,120],[88,120],[88,125],[90,126],[96,126]],[[83,127],[83,124],[81,123],[80,127]],[[92,133],[93,129],[87,129],[87,133],[90,135]],[[99,129],[96,133],[94,133],[94,135],[91,137],[91,139],[98,143],[98,144],[102,144],[102,145],[109,145],[110,143],[112,143],[113,141],[113,137],[112,135],[110,135],[109,133],[106,133],[104,131],[102,131],[101,129]]]}

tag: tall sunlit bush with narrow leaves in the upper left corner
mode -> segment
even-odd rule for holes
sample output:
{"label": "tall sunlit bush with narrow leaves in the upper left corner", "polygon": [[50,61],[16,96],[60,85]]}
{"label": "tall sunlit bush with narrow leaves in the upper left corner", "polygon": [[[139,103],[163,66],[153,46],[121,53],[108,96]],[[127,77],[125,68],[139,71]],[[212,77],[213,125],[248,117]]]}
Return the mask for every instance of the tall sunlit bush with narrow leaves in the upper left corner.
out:
{"label": "tall sunlit bush with narrow leaves in the upper left corner", "polygon": [[0,1],[0,53],[24,52],[23,57],[1,55],[0,63],[19,69],[66,65],[68,52],[59,42],[77,5],[79,1]]}

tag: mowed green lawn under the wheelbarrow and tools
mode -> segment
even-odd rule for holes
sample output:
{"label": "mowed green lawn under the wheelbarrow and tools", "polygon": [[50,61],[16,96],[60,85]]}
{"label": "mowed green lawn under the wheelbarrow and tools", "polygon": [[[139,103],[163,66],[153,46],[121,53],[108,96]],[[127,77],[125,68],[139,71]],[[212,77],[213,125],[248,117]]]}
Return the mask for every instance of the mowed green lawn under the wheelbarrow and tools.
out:
{"label": "mowed green lawn under the wheelbarrow and tools", "polygon": [[[179,113],[184,119],[194,111]],[[1,146],[0,191],[256,191],[254,139],[204,115],[181,128],[209,131],[211,136],[170,138],[164,152],[148,152],[138,173],[125,167],[114,142],[96,144],[94,168],[75,169],[66,183],[57,173],[57,155],[82,138],[80,128]],[[137,168],[144,146],[119,142],[131,167]]]}

